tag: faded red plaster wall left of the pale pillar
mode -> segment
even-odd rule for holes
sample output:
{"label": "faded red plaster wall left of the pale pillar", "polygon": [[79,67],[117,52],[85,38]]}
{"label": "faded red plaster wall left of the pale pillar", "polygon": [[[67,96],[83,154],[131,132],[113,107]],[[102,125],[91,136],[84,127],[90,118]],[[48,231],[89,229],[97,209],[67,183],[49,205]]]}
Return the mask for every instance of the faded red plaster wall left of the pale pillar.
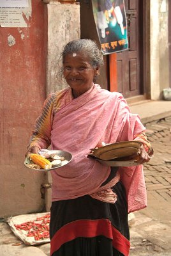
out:
{"label": "faded red plaster wall left of the pale pillar", "polygon": [[44,204],[45,175],[25,168],[24,154],[45,99],[46,17],[46,4],[34,0],[27,28],[0,28],[0,216],[37,212]]}

